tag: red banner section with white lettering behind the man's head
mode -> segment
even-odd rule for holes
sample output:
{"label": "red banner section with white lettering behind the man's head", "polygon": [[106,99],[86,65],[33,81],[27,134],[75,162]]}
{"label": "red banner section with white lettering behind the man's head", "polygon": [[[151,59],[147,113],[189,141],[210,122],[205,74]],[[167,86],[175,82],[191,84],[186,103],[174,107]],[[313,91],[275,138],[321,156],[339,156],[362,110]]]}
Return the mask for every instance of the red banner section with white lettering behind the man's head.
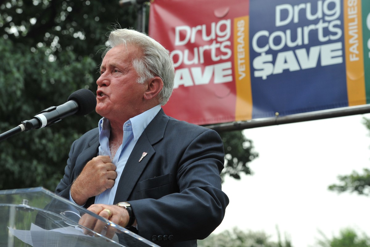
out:
{"label": "red banner section with white lettering behind the man's head", "polygon": [[[235,64],[239,77],[249,81],[248,6],[248,1],[240,0],[151,4],[149,35],[171,51],[176,70],[166,114],[196,124],[235,121]],[[235,30],[239,37],[234,37]],[[233,56],[235,38],[240,56]]]}

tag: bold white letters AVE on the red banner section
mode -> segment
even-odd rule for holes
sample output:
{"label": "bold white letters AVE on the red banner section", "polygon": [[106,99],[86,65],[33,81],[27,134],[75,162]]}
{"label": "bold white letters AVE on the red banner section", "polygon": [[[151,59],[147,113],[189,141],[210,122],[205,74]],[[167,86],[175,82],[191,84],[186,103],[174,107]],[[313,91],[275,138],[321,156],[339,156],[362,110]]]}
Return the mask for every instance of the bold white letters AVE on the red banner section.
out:
{"label": "bold white letters AVE on the red banner section", "polygon": [[180,85],[185,87],[209,84],[213,76],[213,82],[226,83],[232,81],[231,62],[213,64],[204,67],[192,67],[175,70],[175,85],[178,88]]}

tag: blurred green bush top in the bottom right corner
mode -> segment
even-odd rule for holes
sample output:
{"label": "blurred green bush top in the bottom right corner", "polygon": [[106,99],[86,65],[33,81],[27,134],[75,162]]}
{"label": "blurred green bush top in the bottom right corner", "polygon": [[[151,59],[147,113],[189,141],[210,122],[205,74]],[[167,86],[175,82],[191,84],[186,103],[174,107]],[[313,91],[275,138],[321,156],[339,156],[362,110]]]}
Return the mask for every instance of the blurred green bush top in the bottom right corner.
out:
{"label": "blurred green bush top in the bottom right corner", "polygon": [[356,233],[351,228],[346,228],[340,231],[339,237],[327,238],[323,233],[323,240],[319,240],[318,244],[322,247],[370,247],[370,238],[366,234]]}

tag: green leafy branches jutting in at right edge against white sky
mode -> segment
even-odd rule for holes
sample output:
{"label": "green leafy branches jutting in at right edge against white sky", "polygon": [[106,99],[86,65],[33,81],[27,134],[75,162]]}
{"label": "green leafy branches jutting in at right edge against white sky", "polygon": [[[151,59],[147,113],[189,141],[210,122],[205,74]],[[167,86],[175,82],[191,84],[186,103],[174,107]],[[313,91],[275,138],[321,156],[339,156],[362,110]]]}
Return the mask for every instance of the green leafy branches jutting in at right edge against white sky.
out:
{"label": "green leafy branches jutting in at right edge against white sky", "polygon": [[[365,126],[370,130],[370,119],[364,118]],[[363,168],[363,173],[352,171],[349,175],[339,175],[340,184],[332,184],[329,190],[338,192],[357,192],[360,195],[370,196],[370,169]]]}

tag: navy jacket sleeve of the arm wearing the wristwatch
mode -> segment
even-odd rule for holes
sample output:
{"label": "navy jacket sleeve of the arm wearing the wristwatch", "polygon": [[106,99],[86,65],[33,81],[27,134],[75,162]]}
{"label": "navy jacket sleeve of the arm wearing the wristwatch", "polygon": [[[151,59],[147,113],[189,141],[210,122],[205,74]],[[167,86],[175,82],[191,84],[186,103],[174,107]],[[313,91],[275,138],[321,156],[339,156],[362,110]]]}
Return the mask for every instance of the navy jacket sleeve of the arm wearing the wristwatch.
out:
{"label": "navy jacket sleeve of the arm wearing the wristwatch", "polygon": [[229,203],[219,176],[224,164],[223,143],[215,131],[201,128],[199,133],[199,128],[183,128],[184,133],[175,128],[164,144],[153,146],[157,153],[162,152],[155,154],[161,157],[154,159],[162,163],[157,166],[174,163],[176,172],[171,175],[178,191],[158,199],[129,201],[140,236],[149,240],[153,235],[172,235],[173,241],[203,239],[221,223]]}

